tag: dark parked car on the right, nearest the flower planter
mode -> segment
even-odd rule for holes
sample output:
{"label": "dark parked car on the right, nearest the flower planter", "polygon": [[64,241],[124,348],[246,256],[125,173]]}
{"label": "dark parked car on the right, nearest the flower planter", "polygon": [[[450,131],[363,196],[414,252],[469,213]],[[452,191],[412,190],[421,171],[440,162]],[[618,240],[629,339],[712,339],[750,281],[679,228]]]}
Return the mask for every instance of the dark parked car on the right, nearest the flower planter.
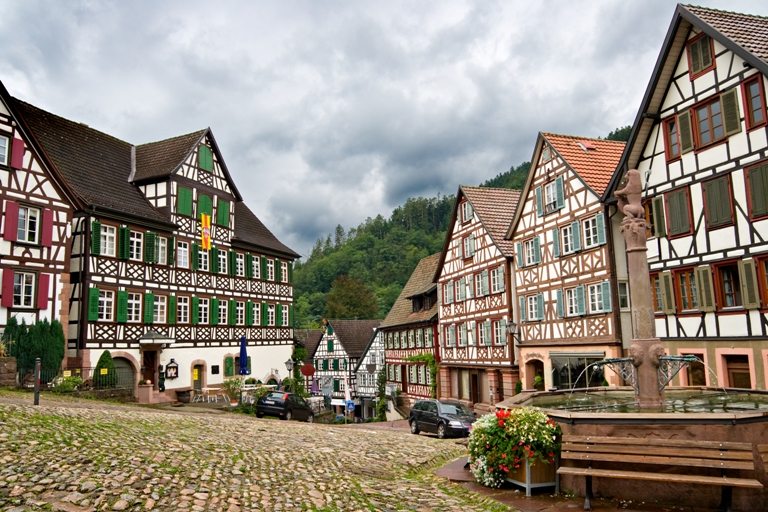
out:
{"label": "dark parked car on the right, nearest the flower planter", "polygon": [[411,408],[408,424],[412,434],[423,430],[443,439],[448,436],[468,436],[475,419],[475,413],[459,402],[417,400]]}

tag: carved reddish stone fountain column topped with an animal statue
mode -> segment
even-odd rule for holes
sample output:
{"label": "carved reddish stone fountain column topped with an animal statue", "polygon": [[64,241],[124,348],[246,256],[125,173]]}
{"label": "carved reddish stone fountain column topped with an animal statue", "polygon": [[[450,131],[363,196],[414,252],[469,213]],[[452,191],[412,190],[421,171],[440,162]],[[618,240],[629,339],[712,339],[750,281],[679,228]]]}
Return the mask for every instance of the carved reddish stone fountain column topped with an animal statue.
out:
{"label": "carved reddish stone fountain column topped with an animal statue", "polygon": [[656,337],[651,278],[648,271],[648,248],[645,235],[645,210],[641,204],[640,171],[627,171],[624,186],[616,190],[619,211],[624,213],[621,231],[624,234],[629,273],[629,297],[632,306],[632,344],[629,348],[637,379],[638,406],[659,408],[664,400],[659,386],[659,357],[664,346]]}

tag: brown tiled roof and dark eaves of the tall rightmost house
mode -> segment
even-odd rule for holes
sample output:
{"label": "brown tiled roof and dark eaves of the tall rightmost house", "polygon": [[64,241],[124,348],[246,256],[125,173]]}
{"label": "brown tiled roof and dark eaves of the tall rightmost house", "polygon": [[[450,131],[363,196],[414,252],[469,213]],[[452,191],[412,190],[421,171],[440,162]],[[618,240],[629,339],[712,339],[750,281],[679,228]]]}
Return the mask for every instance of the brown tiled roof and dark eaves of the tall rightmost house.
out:
{"label": "brown tiled roof and dark eaves of the tall rightmost house", "polygon": [[651,129],[659,120],[662,102],[694,26],[768,76],[768,17],[678,4],[632,125],[627,147],[603,195],[604,202],[613,200],[613,191],[624,173],[637,166]]}

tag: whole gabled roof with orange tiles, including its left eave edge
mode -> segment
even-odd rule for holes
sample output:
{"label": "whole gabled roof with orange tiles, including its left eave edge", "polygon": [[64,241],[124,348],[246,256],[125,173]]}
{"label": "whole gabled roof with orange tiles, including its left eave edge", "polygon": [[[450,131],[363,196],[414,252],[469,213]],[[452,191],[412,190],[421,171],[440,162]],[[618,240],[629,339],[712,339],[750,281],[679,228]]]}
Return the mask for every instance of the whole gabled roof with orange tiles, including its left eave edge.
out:
{"label": "whole gabled roof with orange tiles, including its left eave edge", "polygon": [[[538,168],[541,151],[545,143],[552,146],[557,154],[565,160],[566,165],[594,191],[598,198],[602,196],[611,180],[611,176],[616,171],[616,166],[621,159],[625,147],[625,143],[622,141],[539,132],[533,149],[533,156],[531,157],[531,170],[528,172],[528,177],[523,187],[523,201],[526,200],[531,192],[531,184],[536,177],[536,169]],[[515,218],[509,225],[506,237],[510,243],[522,213],[523,209],[519,208],[515,212]]]}

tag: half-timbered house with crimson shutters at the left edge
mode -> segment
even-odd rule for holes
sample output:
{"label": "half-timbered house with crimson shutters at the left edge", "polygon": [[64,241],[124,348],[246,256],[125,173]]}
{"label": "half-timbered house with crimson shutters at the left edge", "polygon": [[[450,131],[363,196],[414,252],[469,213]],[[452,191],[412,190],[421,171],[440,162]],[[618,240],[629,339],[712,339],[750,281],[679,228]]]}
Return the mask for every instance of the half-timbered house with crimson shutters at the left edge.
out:
{"label": "half-timbered house with crimson shutters at the left edge", "polygon": [[73,202],[0,82],[0,330],[11,317],[66,325]]}

